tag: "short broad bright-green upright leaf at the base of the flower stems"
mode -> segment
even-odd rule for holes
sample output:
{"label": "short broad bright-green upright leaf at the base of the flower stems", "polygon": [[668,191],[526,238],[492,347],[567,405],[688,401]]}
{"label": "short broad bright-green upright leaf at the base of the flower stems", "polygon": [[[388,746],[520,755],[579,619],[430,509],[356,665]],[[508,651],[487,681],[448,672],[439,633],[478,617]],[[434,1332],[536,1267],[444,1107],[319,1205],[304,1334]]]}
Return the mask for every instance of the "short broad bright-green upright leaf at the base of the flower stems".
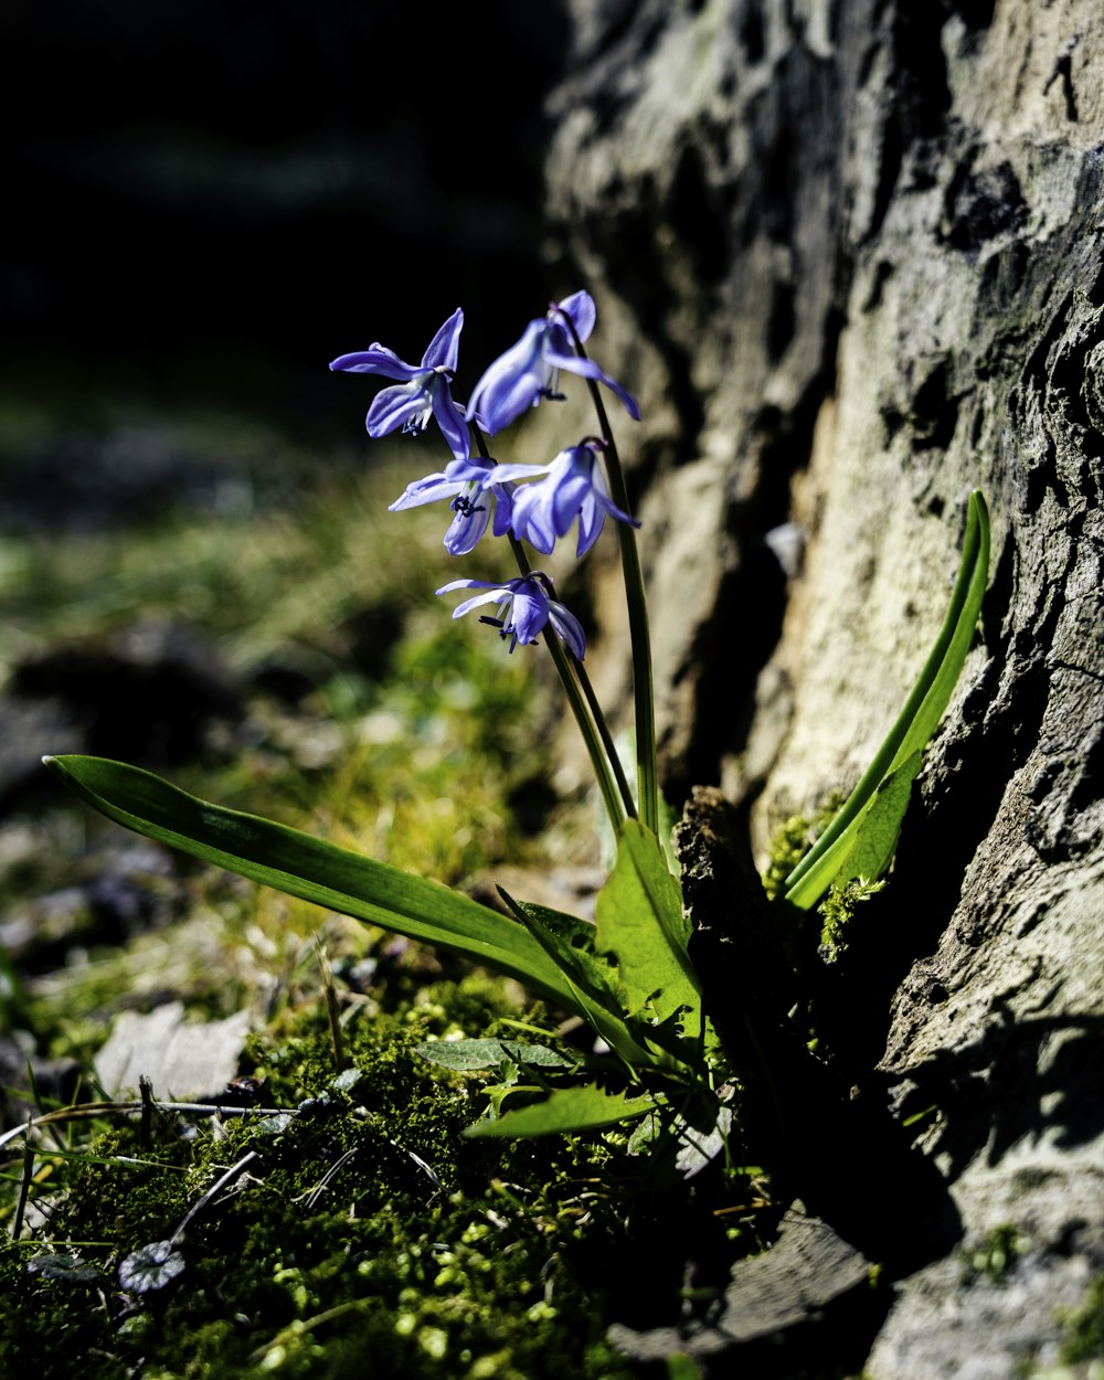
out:
{"label": "short broad bright-green upright leaf at the base of the flower stems", "polygon": [[660,1020],[682,1007],[683,1031],[701,1034],[701,989],[686,952],[690,937],[682,891],[656,836],[627,820],[617,864],[602,887],[595,911],[595,948],[613,955],[629,995],[629,1010],[651,1003]]}

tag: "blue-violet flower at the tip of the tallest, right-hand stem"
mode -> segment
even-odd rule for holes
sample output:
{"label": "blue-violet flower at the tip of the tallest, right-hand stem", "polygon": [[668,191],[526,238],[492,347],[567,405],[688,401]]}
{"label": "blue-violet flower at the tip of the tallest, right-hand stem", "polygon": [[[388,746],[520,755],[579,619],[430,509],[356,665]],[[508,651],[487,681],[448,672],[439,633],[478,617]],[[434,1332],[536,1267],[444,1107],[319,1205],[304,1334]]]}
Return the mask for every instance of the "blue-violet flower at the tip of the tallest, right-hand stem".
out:
{"label": "blue-violet flower at the tip of the tallest, right-hand stem", "polygon": [[595,317],[589,293],[573,293],[562,302],[553,302],[548,313],[530,322],[518,344],[486,370],[472,392],[468,415],[490,433],[501,431],[542,397],[559,397],[559,374],[566,368],[611,388],[629,417],[639,421],[640,408],[632,395],[609,374],[603,374],[592,359],[582,359],[574,351],[566,320],[570,320],[582,342],[593,330]]}

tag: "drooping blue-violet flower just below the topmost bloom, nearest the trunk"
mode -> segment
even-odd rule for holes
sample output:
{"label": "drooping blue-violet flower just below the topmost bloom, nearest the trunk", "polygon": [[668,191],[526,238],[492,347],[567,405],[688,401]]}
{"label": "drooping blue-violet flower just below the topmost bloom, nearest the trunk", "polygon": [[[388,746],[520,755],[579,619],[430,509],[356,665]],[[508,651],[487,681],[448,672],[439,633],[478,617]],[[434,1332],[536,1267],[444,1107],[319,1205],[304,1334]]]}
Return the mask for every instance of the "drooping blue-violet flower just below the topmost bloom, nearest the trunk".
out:
{"label": "drooping blue-violet flower just below the topmost bloom, nearest the trunk", "polygon": [[599,453],[600,440],[588,439],[562,450],[548,465],[497,465],[495,483],[512,483],[544,475],[537,483],[523,484],[513,494],[513,534],[548,556],[559,537],[566,537],[578,518],[575,555],[585,556],[598,541],[606,515],[631,527],[640,523],[610,498]]}

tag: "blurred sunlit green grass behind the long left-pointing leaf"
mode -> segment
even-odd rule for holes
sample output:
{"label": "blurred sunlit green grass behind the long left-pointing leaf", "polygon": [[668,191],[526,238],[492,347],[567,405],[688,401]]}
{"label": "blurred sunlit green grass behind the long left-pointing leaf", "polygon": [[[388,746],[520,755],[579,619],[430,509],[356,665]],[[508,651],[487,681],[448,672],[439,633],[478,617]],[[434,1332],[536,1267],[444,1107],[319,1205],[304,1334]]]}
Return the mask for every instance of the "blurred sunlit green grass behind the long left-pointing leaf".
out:
{"label": "blurred sunlit green grass behind the long left-pointing leaf", "polygon": [[[484,542],[450,558],[440,504],[388,512],[411,479],[442,464],[433,437],[316,454],[243,418],[127,413],[99,418],[98,437],[109,446],[127,428],[160,436],[182,469],[217,482],[197,502],[181,475],[178,490],[138,516],[113,519],[108,494],[95,524],[7,524],[0,673],[58,647],[106,644],[142,621],[185,627],[244,687],[244,716],[164,773],[177,784],[450,885],[497,864],[538,862],[541,846],[518,827],[515,803],[548,793],[540,649],[508,656],[490,629],[453,621],[453,600],[433,598],[458,577],[508,577],[509,552]],[[7,479],[18,482],[26,457],[50,443],[33,417],[12,422],[0,408]],[[288,702],[266,690],[273,668],[290,668],[305,693]],[[17,909],[87,883],[103,850],[127,840],[61,798],[21,809],[4,829],[21,840],[10,865],[0,842],[0,897]],[[250,1002],[272,1010],[273,991],[286,998],[294,974],[312,983],[304,954],[316,930],[349,952],[366,943],[352,922],[174,867],[186,886],[174,926],[94,945],[36,977],[36,1025],[63,1018],[76,1034],[142,992],[190,992],[219,1012]]]}

